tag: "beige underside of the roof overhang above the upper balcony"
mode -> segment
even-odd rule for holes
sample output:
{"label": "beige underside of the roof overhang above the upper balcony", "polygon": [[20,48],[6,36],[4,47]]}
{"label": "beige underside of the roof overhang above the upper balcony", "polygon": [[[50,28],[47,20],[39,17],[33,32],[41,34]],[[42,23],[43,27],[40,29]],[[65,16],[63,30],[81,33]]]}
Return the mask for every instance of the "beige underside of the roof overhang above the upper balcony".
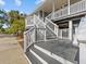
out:
{"label": "beige underside of the roof overhang above the upper balcony", "polygon": [[[77,1],[81,1],[81,0],[70,0],[71,4],[73,4]],[[59,9],[64,8],[64,5],[66,7],[67,0],[45,0],[36,7],[34,13],[37,13],[38,11],[44,11],[44,12],[50,13],[50,12],[52,12],[53,3],[54,3],[54,10],[57,11]]]}

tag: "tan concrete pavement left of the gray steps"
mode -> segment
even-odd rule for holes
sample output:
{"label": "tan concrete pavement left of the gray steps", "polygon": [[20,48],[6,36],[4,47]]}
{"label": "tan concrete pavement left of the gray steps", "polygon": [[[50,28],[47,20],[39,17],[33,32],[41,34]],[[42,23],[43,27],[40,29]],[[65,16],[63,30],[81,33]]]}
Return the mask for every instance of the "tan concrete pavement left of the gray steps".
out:
{"label": "tan concrete pavement left of the gray steps", "polygon": [[16,38],[0,38],[0,64],[28,64]]}

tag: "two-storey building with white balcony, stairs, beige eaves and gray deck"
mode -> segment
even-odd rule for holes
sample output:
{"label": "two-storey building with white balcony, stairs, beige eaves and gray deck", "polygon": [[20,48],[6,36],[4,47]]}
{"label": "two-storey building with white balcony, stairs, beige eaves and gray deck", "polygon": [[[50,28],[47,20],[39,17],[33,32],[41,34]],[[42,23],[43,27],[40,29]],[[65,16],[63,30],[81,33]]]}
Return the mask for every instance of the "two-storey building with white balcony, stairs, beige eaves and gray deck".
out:
{"label": "two-storey building with white balcony, stairs, beige eaves and gray deck", "polygon": [[[81,41],[85,42],[86,38],[85,35],[82,36],[85,33],[85,16],[86,0],[44,0],[35,12],[26,17],[24,51],[27,55],[33,53],[38,59],[35,59],[38,64],[86,64],[86,47]],[[78,36],[81,30],[84,31]],[[29,60],[33,57],[29,56]]]}

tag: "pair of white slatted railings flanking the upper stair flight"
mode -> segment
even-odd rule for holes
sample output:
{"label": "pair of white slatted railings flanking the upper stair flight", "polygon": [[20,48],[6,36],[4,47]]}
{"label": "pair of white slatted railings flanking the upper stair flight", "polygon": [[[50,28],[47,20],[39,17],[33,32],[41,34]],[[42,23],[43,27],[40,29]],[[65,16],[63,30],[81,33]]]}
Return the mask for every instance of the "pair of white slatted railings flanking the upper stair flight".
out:
{"label": "pair of white slatted railings flanking the upper stair flight", "polygon": [[[45,40],[47,40],[47,30],[51,31],[56,38],[58,37],[58,25],[52,23],[50,20],[46,17],[45,22],[42,22],[38,16],[35,15],[35,23],[37,28],[40,29],[41,35],[45,35]],[[46,30],[41,30],[41,28]]]}

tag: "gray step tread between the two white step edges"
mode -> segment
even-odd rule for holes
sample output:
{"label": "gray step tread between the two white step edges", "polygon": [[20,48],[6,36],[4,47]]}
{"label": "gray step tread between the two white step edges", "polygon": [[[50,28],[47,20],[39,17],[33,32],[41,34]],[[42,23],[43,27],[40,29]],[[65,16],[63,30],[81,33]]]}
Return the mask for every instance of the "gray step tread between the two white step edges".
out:
{"label": "gray step tread between the two white step edges", "polygon": [[32,50],[36,52],[41,59],[44,59],[48,64],[61,64],[59,61],[48,56],[47,54],[42,53],[41,51],[35,48],[32,48]]}

